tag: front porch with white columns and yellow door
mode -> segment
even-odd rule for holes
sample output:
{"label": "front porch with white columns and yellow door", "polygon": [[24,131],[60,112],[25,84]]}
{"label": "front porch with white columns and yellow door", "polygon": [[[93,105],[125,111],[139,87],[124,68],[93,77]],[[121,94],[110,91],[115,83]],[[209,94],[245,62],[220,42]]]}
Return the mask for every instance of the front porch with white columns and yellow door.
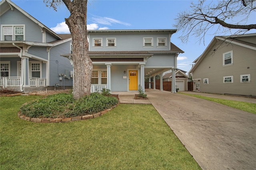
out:
{"label": "front porch with white columns and yellow door", "polygon": [[[101,92],[103,88],[112,92],[138,92],[140,88],[145,92],[145,76],[155,77],[163,72],[172,69],[152,66],[147,67],[146,61],[154,54],[143,52],[89,52],[93,63],[91,92]],[[114,54],[113,54],[114,53]],[[73,65],[72,54],[61,55],[70,59]],[[101,57],[101,58],[100,58]],[[76,74],[74,72],[74,74]],[[175,77],[175,76],[174,76]],[[132,86],[131,84],[134,84]],[[163,83],[160,84],[163,90]],[[156,89],[154,85],[152,87]],[[176,91],[175,91],[176,92]]]}

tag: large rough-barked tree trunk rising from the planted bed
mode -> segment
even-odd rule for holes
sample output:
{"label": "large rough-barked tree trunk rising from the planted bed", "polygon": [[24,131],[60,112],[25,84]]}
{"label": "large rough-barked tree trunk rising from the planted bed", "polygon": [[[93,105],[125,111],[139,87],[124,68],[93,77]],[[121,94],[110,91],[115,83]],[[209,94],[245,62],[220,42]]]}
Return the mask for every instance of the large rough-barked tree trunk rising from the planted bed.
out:
{"label": "large rough-barked tree trunk rising from the planted bed", "polygon": [[74,85],[73,98],[79,99],[90,95],[92,78],[92,60],[88,55],[88,40],[86,28],[87,0],[63,0],[70,11],[65,18],[72,37]]}

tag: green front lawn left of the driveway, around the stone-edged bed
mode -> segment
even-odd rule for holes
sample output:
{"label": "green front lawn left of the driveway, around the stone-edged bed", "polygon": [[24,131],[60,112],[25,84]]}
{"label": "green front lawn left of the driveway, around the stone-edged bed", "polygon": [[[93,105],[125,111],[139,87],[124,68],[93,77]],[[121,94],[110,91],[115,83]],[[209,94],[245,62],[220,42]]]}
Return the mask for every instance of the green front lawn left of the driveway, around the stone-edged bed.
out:
{"label": "green front lawn left of the driveway, around the stone-edged bed", "polygon": [[40,96],[0,97],[0,169],[200,169],[152,105],[119,104],[95,119],[34,123],[17,117]]}

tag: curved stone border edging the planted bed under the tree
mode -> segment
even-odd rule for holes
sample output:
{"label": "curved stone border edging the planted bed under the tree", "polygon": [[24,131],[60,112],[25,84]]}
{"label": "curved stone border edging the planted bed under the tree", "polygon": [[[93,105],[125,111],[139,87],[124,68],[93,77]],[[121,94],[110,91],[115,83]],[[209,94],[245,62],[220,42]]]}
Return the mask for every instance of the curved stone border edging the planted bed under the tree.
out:
{"label": "curved stone border edging the planted bed under the tree", "polygon": [[110,109],[106,109],[104,111],[94,113],[91,115],[83,115],[83,116],[68,117],[68,118],[31,118],[23,115],[20,111],[17,114],[20,119],[24,119],[26,121],[32,121],[36,123],[62,123],[62,122],[80,121],[80,120],[93,119],[96,117],[100,117],[101,115],[104,115],[108,111],[114,109],[117,105],[111,107]]}

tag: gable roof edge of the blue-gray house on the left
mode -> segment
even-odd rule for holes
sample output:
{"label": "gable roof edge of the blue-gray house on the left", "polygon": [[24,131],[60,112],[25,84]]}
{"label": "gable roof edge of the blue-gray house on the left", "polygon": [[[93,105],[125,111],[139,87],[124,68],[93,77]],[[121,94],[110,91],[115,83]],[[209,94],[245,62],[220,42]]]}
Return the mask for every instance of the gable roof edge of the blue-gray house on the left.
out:
{"label": "gable roof edge of the blue-gray house on the left", "polygon": [[52,31],[51,29],[49,29],[48,27],[46,27],[44,24],[42,24],[40,21],[36,20],[34,17],[32,17],[30,14],[28,14],[27,12],[25,12],[24,10],[22,10],[20,7],[18,7],[16,4],[14,4],[12,1],[10,0],[2,0],[0,2],[0,16],[2,16],[2,14],[4,14],[5,12],[7,12],[8,10],[13,10],[13,8],[16,8],[17,10],[19,10],[22,14],[24,14],[25,16],[27,16],[30,20],[34,21],[36,24],[38,24],[42,29],[46,29],[48,32],[50,32],[52,35],[54,35],[55,37],[62,39],[60,36],[58,36],[58,34],[56,34],[54,31]]}

